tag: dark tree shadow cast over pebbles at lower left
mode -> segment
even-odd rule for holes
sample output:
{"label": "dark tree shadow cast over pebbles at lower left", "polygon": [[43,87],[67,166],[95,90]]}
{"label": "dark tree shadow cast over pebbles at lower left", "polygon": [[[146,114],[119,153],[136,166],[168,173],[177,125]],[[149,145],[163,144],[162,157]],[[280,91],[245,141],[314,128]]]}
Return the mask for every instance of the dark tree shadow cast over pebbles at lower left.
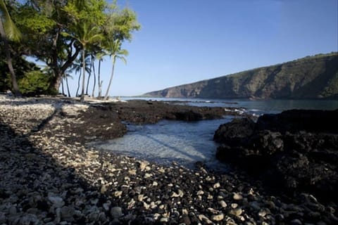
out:
{"label": "dark tree shadow cast over pebbles at lower left", "polygon": [[109,209],[102,210],[107,196],[74,167],[58,161],[67,155],[48,151],[53,145],[46,150],[44,143],[35,139],[46,124],[62,114],[62,108],[55,107],[26,133],[16,127],[27,124],[10,124],[8,115],[2,113],[0,110],[0,224],[104,224],[113,220]]}

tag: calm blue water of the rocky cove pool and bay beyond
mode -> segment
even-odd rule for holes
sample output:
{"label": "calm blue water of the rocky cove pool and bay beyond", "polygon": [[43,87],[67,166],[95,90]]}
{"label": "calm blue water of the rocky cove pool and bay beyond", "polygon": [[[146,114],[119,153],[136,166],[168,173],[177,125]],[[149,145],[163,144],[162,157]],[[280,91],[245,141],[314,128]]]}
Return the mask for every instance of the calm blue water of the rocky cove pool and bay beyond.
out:
{"label": "calm blue water of the rocky cove pool and bay beyond", "polygon": [[[220,106],[246,108],[246,112],[280,113],[292,108],[332,110],[338,108],[338,101],[243,101],[205,100],[182,98],[142,98],[152,101],[175,101],[178,104],[197,106]],[[127,98],[125,100],[130,100]],[[185,167],[194,167],[194,162],[204,162],[213,169],[226,169],[226,165],[215,159],[217,144],[213,134],[220,124],[230,122],[233,117],[223,120],[201,122],[161,121],[158,124],[136,126],[129,124],[129,132],[119,139],[96,142],[94,146],[115,153],[168,165],[177,162]]]}

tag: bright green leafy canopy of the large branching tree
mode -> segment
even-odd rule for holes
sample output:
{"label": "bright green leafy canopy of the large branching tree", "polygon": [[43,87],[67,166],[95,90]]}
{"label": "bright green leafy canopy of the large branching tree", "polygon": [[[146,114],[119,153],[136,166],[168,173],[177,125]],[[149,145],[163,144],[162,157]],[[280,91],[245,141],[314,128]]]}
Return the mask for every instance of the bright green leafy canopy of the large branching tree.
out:
{"label": "bright green leafy canopy of the large branching tree", "polygon": [[[102,53],[109,56],[112,53],[107,42],[131,41],[132,32],[140,28],[136,13],[118,7],[116,1],[108,4],[105,0],[5,0],[4,4],[23,34],[20,43],[11,48],[13,57],[30,56],[44,62],[51,75],[42,72],[41,76],[49,77],[49,89],[59,89],[61,79],[67,77],[65,74],[75,60],[81,58],[83,67],[87,57]],[[6,76],[1,73],[1,77]]]}

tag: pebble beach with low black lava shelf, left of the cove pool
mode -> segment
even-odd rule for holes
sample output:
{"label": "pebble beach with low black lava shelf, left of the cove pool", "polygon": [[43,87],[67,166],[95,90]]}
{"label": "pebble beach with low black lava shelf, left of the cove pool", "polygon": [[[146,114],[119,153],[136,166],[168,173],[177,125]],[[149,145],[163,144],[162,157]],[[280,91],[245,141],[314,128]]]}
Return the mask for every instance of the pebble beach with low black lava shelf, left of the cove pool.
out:
{"label": "pebble beach with low black lava shelf, left of the cove pool", "polygon": [[[156,109],[156,110],[155,110]],[[272,195],[246,174],[217,174],[85,146],[122,121],[201,120],[222,108],[0,98],[0,224],[337,224],[336,203]]]}

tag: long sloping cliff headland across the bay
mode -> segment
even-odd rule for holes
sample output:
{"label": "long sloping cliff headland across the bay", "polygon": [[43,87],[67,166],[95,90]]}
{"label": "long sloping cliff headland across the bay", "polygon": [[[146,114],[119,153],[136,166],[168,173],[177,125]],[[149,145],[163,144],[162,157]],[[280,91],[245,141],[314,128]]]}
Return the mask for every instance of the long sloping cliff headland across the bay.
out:
{"label": "long sloping cliff headland across the bay", "polygon": [[338,53],[307,56],[144,94],[168,98],[338,99]]}

